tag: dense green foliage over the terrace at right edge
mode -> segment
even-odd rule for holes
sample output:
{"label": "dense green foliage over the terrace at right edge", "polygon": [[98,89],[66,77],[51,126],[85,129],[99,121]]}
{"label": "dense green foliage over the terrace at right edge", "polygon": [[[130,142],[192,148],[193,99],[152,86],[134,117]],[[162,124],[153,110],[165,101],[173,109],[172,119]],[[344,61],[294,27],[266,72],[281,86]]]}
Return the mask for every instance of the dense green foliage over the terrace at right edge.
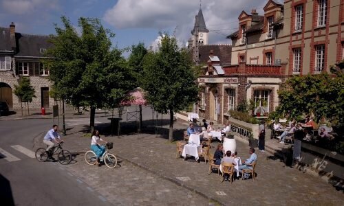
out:
{"label": "dense green foliage over the terrace at right edge", "polygon": [[298,118],[313,114],[319,122],[323,117],[333,123],[343,123],[343,73],[293,76],[279,90],[279,106],[274,116]]}

